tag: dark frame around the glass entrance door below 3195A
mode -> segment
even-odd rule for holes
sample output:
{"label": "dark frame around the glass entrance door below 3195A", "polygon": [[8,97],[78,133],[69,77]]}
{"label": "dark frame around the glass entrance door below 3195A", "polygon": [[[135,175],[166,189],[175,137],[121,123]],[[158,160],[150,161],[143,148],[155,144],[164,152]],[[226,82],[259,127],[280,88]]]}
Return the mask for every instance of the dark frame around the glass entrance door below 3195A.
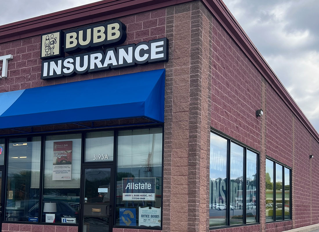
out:
{"label": "dark frame around the glass entrance door below 3195A", "polygon": [[[107,161],[105,161],[107,162]],[[109,162],[107,164],[101,164],[100,162],[98,164],[92,164],[90,163],[82,163],[81,167],[81,184],[80,184],[80,205],[79,205],[79,222],[78,222],[78,231],[83,232],[83,210],[84,210],[84,190],[85,190],[85,169],[89,168],[110,168],[111,170],[111,176],[110,176],[110,217],[109,217],[109,232],[112,232],[113,226],[114,226],[114,216],[115,216],[115,167],[113,162]],[[96,231],[98,232],[98,231]]]}

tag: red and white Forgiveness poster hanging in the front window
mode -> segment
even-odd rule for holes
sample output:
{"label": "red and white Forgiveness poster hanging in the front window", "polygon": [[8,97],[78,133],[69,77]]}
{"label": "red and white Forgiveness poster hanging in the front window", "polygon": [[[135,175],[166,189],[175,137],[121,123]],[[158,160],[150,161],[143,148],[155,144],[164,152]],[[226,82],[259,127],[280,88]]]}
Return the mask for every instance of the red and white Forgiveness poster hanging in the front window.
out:
{"label": "red and white Forgiveness poster hanging in the front window", "polygon": [[53,143],[52,180],[71,180],[72,141]]}

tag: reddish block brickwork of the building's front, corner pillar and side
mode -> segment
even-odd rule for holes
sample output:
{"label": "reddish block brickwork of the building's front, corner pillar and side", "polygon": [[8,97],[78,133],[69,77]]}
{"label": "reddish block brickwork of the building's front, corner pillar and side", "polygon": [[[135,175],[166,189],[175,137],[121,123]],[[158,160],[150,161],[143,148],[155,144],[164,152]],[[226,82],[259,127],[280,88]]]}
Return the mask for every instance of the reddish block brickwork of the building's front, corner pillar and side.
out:
{"label": "reddish block brickwork of the building's front, corner pillar and side", "polygon": [[[261,152],[260,225],[220,230],[280,232],[319,223],[319,164],[308,156],[319,144],[204,5],[194,1],[119,20],[127,26],[125,44],[167,37],[169,61],[43,81],[35,36],[0,45],[0,56],[14,56],[0,92],[165,68],[162,231],[209,231],[210,126]],[[293,221],[265,223],[266,155],[293,168]],[[77,227],[3,224],[3,231],[62,230]]]}

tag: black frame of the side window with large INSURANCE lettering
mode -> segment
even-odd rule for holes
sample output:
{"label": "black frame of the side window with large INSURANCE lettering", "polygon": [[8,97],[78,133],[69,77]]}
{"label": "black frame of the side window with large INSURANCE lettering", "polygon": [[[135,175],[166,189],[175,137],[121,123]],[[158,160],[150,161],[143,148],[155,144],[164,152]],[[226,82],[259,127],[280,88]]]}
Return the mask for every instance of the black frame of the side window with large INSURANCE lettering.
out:
{"label": "black frame of the side window with large INSURANCE lettering", "polygon": [[[227,186],[227,197],[226,197],[226,205],[230,205],[230,155],[231,155],[231,143],[239,145],[243,147],[243,223],[242,224],[230,224],[230,208],[226,208],[226,225],[225,226],[209,226],[209,229],[220,229],[220,228],[228,228],[228,227],[239,227],[239,226],[249,226],[249,225],[256,225],[260,224],[260,152],[250,146],[245,145],[244,143],[234,139],[225,133],[218,131],[214,128],[211,128],[211,133],[218,135],[227,140],[227,158],[226,158],[226,186]],[[257,173],[257,183],[256,183],[256,222],[247,223],[246,217],[246,199],[247,199],[247,150],[256,153],[256,173]],[[210,189],[210,196],[211,196],[211,189]]]}

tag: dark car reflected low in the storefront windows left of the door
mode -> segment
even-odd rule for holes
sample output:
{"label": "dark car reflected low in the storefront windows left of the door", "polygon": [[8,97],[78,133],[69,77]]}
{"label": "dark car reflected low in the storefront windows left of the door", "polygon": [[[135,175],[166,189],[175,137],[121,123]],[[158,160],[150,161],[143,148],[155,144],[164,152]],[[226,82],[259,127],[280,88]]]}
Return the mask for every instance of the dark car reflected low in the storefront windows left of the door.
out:
{"label": "dark car reflected low in the storefront windows left of the door", "polygon": [[[29,218],[39,217],[39,200],[21,200],[19,201],[19,207],[17,202],[11,202],[6,206],[6,215],[8,221],[28,221]],[[56,203],[56,215],[55,221],[61,221],[62,217],[76,218],[78,221],[78,212],[72,208],[67,202],[63,201],[43,201],[43,203],[50,202]],[[42,222],[45,222],[45,214],[48,212],[42,212]]]}

